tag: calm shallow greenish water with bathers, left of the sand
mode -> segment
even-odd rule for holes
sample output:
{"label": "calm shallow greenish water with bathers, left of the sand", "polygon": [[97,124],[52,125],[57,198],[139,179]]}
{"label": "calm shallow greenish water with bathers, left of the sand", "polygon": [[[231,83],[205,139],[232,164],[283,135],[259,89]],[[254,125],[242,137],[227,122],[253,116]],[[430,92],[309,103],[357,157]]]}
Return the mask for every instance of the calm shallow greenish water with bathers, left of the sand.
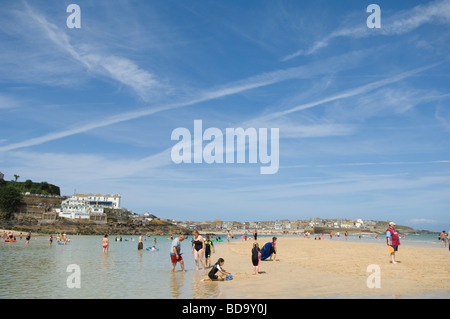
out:
{"label": "calm shallow greenish water with bathers, left of the sand", "polygon": [[[145,237],[144,250],[137,249],[138,236],[110,236],[108,253],[101,247],[103,236],[71,236],[67,245],[48,237],[34,236],[15,243],[0,243],[0,298],[218,298],[216,283],[200,284],[206,277],[197,271],[191,253],[191,238],[182,242],[186,272],[179,264],[171,272],[171,240],[156,236],[159,251],[147,251],[153,237]],[[127,239],[127,241],[125,241]],[[133,240],[132,240],[133,239]],[[220,244],[220,243],[215,243]],[[214,259],[214,255],[213,258]],[[77,281],[80,288],[70,288]],[[69,285],[68,285],[69,281]]]}

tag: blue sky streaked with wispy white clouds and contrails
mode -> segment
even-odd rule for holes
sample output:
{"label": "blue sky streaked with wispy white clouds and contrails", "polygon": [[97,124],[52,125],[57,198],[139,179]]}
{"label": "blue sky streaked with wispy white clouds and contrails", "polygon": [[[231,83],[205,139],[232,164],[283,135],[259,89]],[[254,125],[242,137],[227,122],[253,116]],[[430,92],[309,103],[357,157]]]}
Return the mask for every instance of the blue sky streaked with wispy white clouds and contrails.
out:
{"label": "blue sky streaked with wispy white clouds and contrails", "polygon": [[[7,0],[0,171],[163,218],[448,230],[449,30],[448,0]],[[279,128],[278,172],[173,163],[194,120]]]}

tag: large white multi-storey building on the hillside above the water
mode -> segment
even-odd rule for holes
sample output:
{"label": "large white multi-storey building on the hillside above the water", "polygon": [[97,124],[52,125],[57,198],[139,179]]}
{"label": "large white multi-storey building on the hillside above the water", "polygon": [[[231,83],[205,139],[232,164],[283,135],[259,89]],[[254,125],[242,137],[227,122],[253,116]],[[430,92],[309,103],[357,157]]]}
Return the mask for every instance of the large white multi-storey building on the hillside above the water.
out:
{"label": "large white multi-storey building on the hillside above the water", "polygon": [[89,219],[91,215],[104,214],[105,208],[120,208],[120,194],[76,194],[61,203],[60,217]]}

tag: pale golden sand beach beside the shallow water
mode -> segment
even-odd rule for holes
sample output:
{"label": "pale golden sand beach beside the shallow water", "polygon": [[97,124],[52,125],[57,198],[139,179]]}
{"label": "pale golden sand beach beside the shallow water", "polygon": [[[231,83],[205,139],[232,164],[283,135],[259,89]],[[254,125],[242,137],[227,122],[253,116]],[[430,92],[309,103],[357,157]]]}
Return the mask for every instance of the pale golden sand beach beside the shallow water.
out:
{"label": "pale golden sand beach beside the shallow water", "polygon": [[[258,239],[260,247],[269,238]],[[382,241],[382,239],[380,239]],[[279,237],[275,261],[261,261],[253,275],[253,238],[217,245],[212,256],[225,259],[232,281],[220,285],[225,298],[402,298],[421,294],[450,298],[450,252],[448,248],[403,245],[390,262],[387,246],[313,238]],[[380,270],[380,288],[369,288],[372,272]],[[371,280],[373,283],[374,281]],[[420,298],[420,297],[419,297]]]}

